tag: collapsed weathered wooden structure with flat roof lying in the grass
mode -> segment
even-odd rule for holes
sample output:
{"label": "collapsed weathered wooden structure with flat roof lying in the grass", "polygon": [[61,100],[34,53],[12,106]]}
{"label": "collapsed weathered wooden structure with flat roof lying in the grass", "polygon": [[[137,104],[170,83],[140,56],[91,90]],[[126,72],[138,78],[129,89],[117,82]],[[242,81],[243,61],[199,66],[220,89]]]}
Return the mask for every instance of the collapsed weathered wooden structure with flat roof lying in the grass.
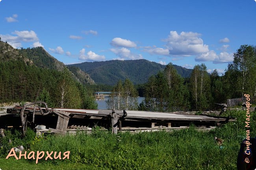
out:
{"label": "collapsed weathered wooden structure with flat roof lying in the grass", "polygon": [[[42,104],[45,105],[44,108],[40,107]],[[30,107],[30,105],[36,106]],[[186,112],[53,109],[48,108],[45,102],[33,102],[22,107],[15,106],[13,108],[7,107],[6,109],[7,114],[0,115],[0,128],[21,125],[24,134],[27,124],[31,124],[33,127],[42,124],[53,133],[65,135],[68,128],[85,129],[85,127],[93,127],[95,125],[102,126],[105,129],[112,129],[112,132],[116,134],[118,129],[119,131],[178,129],[189,126],[191,123],[198,127],[215,127],[216,124],[235,121],[234,118],[230,117],[190,115]]]}

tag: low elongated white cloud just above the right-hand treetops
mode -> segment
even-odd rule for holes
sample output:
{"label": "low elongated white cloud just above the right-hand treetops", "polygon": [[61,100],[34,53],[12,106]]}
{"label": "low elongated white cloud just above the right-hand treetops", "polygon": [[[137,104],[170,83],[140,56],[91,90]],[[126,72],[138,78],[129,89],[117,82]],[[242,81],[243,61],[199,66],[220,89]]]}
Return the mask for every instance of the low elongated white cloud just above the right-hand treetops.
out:
{"label": "low elongated white cloud just above the right-hand treetops", "polygon": [[221,52],[217,55],[213,50],[195,57],[195,61],[212,61],[214,64],[231,63],[233,59],[233,53]]}

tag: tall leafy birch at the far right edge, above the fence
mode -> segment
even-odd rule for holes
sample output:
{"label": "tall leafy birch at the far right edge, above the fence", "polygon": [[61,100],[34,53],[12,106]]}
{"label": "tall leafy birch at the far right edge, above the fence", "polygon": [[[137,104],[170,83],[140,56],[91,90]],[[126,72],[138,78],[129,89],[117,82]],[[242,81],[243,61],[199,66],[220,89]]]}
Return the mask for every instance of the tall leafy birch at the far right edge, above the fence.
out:
{"label": "tall leafy birch at the far right edge, above the fence", "polygon": [[256,47],[241,45],[234,53],[233,63],[226,70],[225,86],[229,98],[240,98],[243,94],[256,96]]}

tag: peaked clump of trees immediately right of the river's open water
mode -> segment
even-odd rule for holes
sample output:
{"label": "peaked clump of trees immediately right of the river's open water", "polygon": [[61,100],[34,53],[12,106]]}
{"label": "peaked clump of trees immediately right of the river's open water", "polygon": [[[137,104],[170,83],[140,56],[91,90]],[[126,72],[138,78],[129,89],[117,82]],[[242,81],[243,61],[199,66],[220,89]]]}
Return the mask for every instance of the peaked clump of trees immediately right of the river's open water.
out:
{"label": "peaked clump of trees immediately right of the river's open water", "polygon": [[163,72],[151,76],[145,84],[145,107],[148,111],[186,111],[189,106],[187,85],[172,63]]}

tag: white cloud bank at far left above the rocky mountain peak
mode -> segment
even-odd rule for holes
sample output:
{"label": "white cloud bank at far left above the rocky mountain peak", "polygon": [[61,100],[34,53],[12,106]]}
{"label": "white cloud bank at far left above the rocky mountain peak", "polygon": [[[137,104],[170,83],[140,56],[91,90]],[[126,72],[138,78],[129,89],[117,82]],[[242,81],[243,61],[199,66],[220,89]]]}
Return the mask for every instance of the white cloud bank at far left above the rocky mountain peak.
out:
{"label": "white cloud bank at far left above the rocky mountain peak", "polygon": [[22,47],[21,42],[36,42],[39,41],[37,34],[34,31],[14,31],[12,32],[13,35],[2,35],[2,41],[7,41],[13,48]]}

